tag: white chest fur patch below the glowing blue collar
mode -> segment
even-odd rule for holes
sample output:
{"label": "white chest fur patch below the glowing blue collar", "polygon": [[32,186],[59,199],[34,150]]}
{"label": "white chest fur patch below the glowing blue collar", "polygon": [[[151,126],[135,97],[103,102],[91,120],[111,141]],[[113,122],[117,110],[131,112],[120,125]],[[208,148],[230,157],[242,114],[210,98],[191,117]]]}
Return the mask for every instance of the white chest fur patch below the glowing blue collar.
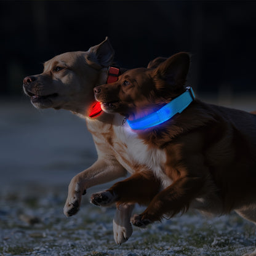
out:
{"label": "white chest fur patch below the glowing blue collar", "polygon": [[[166,154],[163,150],[149,148],[138,135],[130,129],[124,117],[116,114],[113,126],[110,129],[111,144],[109,150],[113,152],[118,162],[126,168],[130,174],[143,169],[152,170],[154,175],[162,181],[162,187],[166,188],[172,181],[164,174]],[[110,136],[110,135],[109,135]],[[105,145],[106,146],[106,145]]]}

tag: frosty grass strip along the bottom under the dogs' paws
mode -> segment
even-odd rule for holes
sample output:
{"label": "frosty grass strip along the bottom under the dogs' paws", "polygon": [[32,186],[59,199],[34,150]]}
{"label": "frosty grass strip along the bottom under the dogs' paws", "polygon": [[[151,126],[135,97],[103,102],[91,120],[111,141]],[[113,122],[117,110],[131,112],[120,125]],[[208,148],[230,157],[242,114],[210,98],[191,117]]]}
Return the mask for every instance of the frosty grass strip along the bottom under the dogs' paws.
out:
{"label": "frosty grass strip along the bottom under the dogs' paws", "polygon": [[[31,255],[33,251],[40,254],[42,246],[47,255],[63,256],[239,256],[254,250],[256,240],[255,226],[235,214],[210,220],[188,212],[146,230],[134,227],[129,241],[118,246],[113,240],[114,209],[84,202],[77,215],[66,218],[62,200],[44,206],[39,199],[18,196],[2,206],[1,237],[5,245],[0,241],[0,256]],[[22,223],[20,210],[40,217],[42,223]]]}

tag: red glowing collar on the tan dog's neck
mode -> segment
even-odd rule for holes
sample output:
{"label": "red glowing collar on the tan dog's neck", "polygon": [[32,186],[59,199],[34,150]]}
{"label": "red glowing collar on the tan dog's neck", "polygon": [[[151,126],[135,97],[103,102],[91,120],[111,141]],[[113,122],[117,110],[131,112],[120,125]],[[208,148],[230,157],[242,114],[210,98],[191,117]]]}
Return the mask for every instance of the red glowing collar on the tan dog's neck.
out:
{"label": "red glowing collar on the tan dog's neck", "polygon": [[[106,84],[111,84],[111,82],[118,81],[118,76],[120,73],[120,68],[116,68],[114,66],[108,67],[108,79],[106,79]],[[89,117],[90,118],[97,118],[100,114],[102,114],[103,110],[100,106],[100,102],[94,102],[90,106],[89,109]]]}

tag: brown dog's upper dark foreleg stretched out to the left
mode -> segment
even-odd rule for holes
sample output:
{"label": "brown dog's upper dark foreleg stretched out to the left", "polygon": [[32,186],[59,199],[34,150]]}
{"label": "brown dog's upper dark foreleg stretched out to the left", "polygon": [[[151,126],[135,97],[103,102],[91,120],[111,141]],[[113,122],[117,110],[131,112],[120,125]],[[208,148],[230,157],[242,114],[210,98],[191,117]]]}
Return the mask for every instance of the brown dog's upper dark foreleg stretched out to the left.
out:
{"label": "brown dog's upper dark foreleg stretched out to the left", "polygon": [[160,189],[161,182],[154,177],[153,171],[146,170],[115,183],[106,191],[92,194],[90,201],[96,206],[111,206],[114,202],[147,205]]}

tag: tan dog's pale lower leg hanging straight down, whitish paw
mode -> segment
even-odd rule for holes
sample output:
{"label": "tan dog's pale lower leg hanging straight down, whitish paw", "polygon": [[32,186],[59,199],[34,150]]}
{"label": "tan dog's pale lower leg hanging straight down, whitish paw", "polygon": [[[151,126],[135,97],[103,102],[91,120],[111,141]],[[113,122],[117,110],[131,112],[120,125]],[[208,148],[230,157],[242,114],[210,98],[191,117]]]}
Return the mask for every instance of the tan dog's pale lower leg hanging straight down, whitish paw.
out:
{"label": "tan dog's pale lower leg hanging straight down, whitish paw", "polygon": [[113,220],[114,241],[116,244],[126,242],[132,235],[132,224],[130,217],[134,204],[121,204],[116,207],[116,214]]}

